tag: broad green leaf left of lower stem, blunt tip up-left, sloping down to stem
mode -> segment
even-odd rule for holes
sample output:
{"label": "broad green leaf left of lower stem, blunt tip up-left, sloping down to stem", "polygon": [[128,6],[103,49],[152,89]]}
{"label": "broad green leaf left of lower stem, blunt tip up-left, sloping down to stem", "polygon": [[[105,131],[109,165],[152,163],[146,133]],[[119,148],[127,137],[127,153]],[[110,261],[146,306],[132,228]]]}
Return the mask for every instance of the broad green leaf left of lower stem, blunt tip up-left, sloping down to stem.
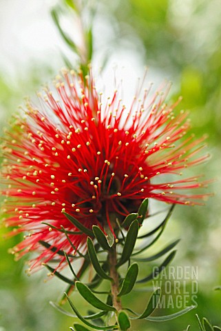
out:
{"label": "broad green leaf left of lower stem, blunt tip up-left, sloping down to stem", "polygon": [[95,308],[99,310],[106,310],[111,312],[116,312],[116,309],[112,307],[111,305],[107,305],[106,303],[103,303],[100,299],[98,299],[94,293],[88,288],[85,284],[81,283],[81,281],[76,281],[75,283],[76,288],[78,292],[81,294],[81,296],[89,302],[91,305],[93,305]]}

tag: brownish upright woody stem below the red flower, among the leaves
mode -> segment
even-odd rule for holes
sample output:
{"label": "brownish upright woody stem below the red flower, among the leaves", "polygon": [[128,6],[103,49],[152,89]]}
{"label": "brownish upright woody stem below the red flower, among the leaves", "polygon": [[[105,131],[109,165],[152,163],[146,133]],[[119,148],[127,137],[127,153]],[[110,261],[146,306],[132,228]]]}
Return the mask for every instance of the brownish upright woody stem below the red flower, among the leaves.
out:
{"label": "brownish upright woody stem below the red flower, among the leaves", "polygon": [[116,270],[116,245],[112,247],[112,250],[109,252],[109,275],[112,277],[112,300],[113,306],[117,311],[122,310],[122,305],[120,298],[117,296],[119,292],[119,275]]}

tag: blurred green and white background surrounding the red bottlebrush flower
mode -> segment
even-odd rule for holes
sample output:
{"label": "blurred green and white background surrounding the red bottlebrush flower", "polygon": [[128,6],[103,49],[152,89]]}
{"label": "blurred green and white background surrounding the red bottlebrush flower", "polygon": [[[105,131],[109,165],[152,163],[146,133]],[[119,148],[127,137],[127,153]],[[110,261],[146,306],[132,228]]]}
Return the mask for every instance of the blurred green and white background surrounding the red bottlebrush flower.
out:
{"label": "blurred green and white background surrounding the red bottlebrush flower", "polygon": [[[0,130],[23,97],[52,80],[64,66],[64,55],[73,66],[76,57],[56,30],[50,10],[65,1],[0,0]],[[180,237],[173,265],[199,268],[198,308],[166,323],[136,325],[136,330],[182,331],[187,325],[198,330],[195,314],[221,326],[221,6],[220,0],[112,0],[83,1],[94,6],[93,66],[102,71],[107,90],[116,76],[125,81],[127,99],[138,77],[149,67],[147,79],[156,86],[173,81],[170,99],[182,95],[180,108],[188,109],[196,137],[209,134],[209,162],[193,169],[215,182],[209,192],[215,196],[204,207],[178,206],[156,250]],[[63,26],[78,39],[76,22],[67,8]],[[128,92],[129,91],[129,92]],[[160,206],[161,208],[162,206]],[[154,205],[153,208],[158,208]],[[4,240],[1,228],[0,331],[63,331],[73,319],[52,308],[48,301],[61,298],[65,284],[58,279],[44,281],[46,270],[28,277],[24,260],[14,262],[8,254],[19,238]],[[151,284],[150,284],[151,285]],[[135,307],[143,308],[147,296],[129,297]],[[82,309],[85,304],[82,303]],[[170,312],[173,312],[172,310]]]}

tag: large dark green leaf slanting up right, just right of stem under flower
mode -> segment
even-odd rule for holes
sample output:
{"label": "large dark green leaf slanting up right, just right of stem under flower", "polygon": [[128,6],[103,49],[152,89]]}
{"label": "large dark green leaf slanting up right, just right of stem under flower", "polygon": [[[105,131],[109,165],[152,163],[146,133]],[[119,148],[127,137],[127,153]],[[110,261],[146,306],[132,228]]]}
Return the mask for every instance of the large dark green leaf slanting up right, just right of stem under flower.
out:
{"label": "large dark green leaf slanting up right, just right of stem under flower", "polygon": [[125,239],[125,245],[123,246],[123,252],[121,254],[120,260],[118,261],[116,267],[120,267],[123,263],[127,262],[131,257],[131,254],[134,250],[134,245],[136,243],[136,238],[138,236],[138,228],[139,223],[138,220],[135,219],[129,226],[129,230],[127,232],[127,237]]}

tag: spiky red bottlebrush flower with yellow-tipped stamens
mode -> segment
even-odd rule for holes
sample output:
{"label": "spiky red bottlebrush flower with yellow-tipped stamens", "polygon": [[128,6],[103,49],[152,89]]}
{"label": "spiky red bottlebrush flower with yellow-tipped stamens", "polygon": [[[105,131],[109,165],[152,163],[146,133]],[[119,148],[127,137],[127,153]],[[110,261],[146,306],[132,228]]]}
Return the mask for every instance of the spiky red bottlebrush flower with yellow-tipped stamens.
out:
{"label": "spiky red bottlebrush flower with yellow-tipped stamens", "polygon": [[[78,229],[63,212],[87,228],[114,232],[116,218],[137,212],[145,198],[201,203],[203,195],[191,190],[204,183],[180,171],[207,157],[198,154],[203,139],[186,136],[187,114],[167,106],[163,93],[150,98],[145,90],[125,108],[116,91],[103,101],[92,75],[83,79],[73,71],[56,77],[54,89],[39,94],[38,106],[28,102],[1,148],[5,223],[11,234],[25,234],[12,252],[38,252],[31,269],[58,250],[73,254],[70,241],[85,249],[86,235],[72,234]],[[65,265],[60,259],[58,268]]]}

